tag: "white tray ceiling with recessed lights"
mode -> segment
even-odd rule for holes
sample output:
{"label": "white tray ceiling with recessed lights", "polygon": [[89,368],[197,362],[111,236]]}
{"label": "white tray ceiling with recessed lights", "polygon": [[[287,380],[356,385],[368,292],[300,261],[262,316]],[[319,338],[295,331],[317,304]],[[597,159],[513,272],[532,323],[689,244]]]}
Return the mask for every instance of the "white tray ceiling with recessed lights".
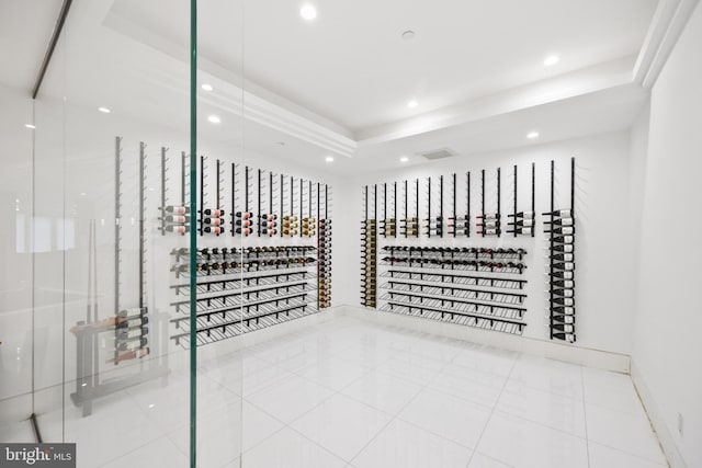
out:
{"label": "white tray ceiling with recessed lights", "polygon": [[[58,11],[45,2],[1,3],[2,53],[14,61],[0,65],[0,82],[31,88]],[[315,4],[318,19],[305,23],[298,2],[200,2],[199,79],[215,85],[200,92],[201,141],[351,173],[392,168],[401,155],[419,163],[414,153],[441,147],[533,145],[524,134],[536,127],[536,142],[627,128],[646,100],[632,71],[656,0]],[[43,93],[186,136],[189,5],[75,0]],[[8,20],[35,15],[49,24],[43,39]],[[411,42],[399,37],[407,28]],[[544,67],[550,54],[562,60]],[[109,118],[97,114],[94,125]]]}

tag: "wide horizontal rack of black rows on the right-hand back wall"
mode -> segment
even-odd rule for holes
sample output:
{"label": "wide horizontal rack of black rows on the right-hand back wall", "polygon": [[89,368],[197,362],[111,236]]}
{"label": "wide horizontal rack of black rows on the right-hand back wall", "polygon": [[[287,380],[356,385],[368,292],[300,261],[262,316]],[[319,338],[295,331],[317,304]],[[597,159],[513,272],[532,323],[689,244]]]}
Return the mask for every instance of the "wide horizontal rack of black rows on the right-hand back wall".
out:
{"label": "wide horizontal rack of black rows on the right-hand back wall", "polygon": [[[385,246],[382,310],[521,334],[524,249]],[[510,275],[501,278],[503,274]]]}

